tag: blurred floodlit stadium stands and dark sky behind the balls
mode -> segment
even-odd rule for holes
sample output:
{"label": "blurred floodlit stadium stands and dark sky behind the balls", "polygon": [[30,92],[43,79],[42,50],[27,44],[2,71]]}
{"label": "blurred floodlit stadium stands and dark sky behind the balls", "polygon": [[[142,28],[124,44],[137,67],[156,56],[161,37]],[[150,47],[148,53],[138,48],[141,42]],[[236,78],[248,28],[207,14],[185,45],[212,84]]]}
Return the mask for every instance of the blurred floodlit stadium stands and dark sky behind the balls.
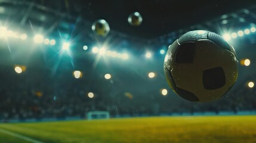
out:
{"label": "blurred floodlit stadium stands and dark sky behind the balls", "polygon": [[[184,2],[1,0],[0,121],[256,114],[256,3]],[[106,37],[91,31],[100,18]],[[240,61],[235,86],[214,102],[183,100],[164,77],[168,46],[198,29],[222,35]]]}

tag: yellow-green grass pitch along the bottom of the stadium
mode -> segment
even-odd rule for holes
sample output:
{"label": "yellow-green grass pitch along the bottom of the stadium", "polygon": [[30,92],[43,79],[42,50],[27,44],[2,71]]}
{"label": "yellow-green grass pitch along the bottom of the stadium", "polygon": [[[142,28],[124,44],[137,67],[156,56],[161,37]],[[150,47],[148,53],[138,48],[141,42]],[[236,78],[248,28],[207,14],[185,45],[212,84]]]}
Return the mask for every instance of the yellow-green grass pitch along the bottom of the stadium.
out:
{"label": "yellow-green grass pitch along the bottom of the stadium", "polygon": [[256,142],[256,116],[143,117],[1,123],[0,142]]}

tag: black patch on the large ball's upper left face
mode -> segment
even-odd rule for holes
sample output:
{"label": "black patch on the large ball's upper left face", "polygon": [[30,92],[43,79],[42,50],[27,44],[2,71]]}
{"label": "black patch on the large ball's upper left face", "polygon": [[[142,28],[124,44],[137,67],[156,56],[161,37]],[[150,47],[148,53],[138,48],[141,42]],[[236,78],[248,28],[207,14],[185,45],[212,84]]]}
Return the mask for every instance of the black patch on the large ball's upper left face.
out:
{"label": "black patch on the large ball's upper left face", "polygon": [[196,51],[195,42],[182,43],[177,50],[177,53],[175,56],[175,62],[176,63],[193,63],[195,51]]}

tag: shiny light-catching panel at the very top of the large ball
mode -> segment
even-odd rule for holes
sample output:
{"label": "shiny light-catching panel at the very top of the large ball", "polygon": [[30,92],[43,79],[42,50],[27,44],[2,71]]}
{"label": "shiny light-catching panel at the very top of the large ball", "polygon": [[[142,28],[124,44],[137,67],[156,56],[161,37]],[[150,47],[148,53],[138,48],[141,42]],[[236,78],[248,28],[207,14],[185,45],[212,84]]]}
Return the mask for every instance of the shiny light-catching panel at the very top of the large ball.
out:
{"label": "shiny light-catching panel at the very top of the large ball", "polygon": [[185,33],[178,39],[178,43],[193,42],[199,39],[207,39],[208,31],[205,30],[193,30]]}

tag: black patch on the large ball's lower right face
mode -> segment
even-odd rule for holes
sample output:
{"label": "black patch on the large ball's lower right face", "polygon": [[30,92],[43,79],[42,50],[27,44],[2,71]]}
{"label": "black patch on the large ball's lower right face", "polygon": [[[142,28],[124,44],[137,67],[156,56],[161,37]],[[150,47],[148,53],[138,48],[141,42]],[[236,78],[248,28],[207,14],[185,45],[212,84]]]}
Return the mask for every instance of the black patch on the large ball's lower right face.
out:
{"label": "black patch on the large ball's lower right face", "polygon": [[203,71],[203,87],[205,89],[218,89],[224,86],[225,83],[226,76],[221,67],[214,67]]}

